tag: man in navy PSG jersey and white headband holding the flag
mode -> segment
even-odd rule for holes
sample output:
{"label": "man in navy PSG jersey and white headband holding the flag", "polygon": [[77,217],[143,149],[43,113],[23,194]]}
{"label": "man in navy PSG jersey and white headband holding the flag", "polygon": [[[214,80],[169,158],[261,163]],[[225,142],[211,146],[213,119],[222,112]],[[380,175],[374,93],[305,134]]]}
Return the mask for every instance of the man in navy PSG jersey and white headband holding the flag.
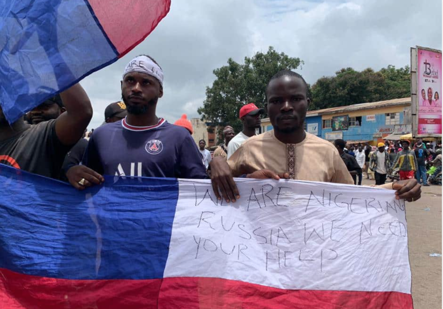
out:
{"label": "man in navy PSG jersey and white headband holding the flag", "polygon": [[[207,178],[189,132],[156,115],[157,101],[163,96],[163,71],[154,59],[141,55],[126,65],[121,94],[127,116],[94,131],[83,165],[112,176]],[[75,187],[101,182],[97,174],[89,174],[76,179]]]}

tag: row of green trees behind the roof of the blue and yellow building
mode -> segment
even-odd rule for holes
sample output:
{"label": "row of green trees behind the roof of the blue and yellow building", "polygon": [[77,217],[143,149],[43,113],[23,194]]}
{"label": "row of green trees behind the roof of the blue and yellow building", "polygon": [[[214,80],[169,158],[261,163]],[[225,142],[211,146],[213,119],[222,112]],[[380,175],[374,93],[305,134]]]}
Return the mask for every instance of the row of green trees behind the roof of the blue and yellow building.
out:
{"label": "row of green trees behind the roof of the blue and yellow building", "polygon": [[396,69],[393,65],[374,71],[359,72],[342,68],[335,76],[323,76],[312,86],[310,109],[323,109],[376,102],[410,95],[409,66]]}

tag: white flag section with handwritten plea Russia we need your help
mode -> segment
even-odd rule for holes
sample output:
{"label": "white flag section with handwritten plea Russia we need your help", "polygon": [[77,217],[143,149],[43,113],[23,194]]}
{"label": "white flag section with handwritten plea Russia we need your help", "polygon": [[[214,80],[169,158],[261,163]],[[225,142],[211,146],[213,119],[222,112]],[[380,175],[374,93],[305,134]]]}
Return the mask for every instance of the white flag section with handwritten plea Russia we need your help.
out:
{"label": "white flag section with handwritten plea Russia we need your help", "polygon": [[180,180],[165,277],[213,277],[282,289],[411,292],[404,200],[393,190],[238,179],[217,201]]}

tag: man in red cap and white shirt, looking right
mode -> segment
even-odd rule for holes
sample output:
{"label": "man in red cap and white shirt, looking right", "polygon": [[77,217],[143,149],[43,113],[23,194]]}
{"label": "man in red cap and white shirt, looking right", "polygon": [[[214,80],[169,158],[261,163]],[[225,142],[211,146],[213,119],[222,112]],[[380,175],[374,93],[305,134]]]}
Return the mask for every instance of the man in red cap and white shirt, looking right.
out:
{"label": "man in red cap and white shirt, looking right", "polygon": [[246,104],[240,109],[243,130],[229,142],[227,159],[233,155],[245,140],[255,135],[255,129],[261,125],[260,115],[263,113],[264,109],[258,108],[254,103]]}

